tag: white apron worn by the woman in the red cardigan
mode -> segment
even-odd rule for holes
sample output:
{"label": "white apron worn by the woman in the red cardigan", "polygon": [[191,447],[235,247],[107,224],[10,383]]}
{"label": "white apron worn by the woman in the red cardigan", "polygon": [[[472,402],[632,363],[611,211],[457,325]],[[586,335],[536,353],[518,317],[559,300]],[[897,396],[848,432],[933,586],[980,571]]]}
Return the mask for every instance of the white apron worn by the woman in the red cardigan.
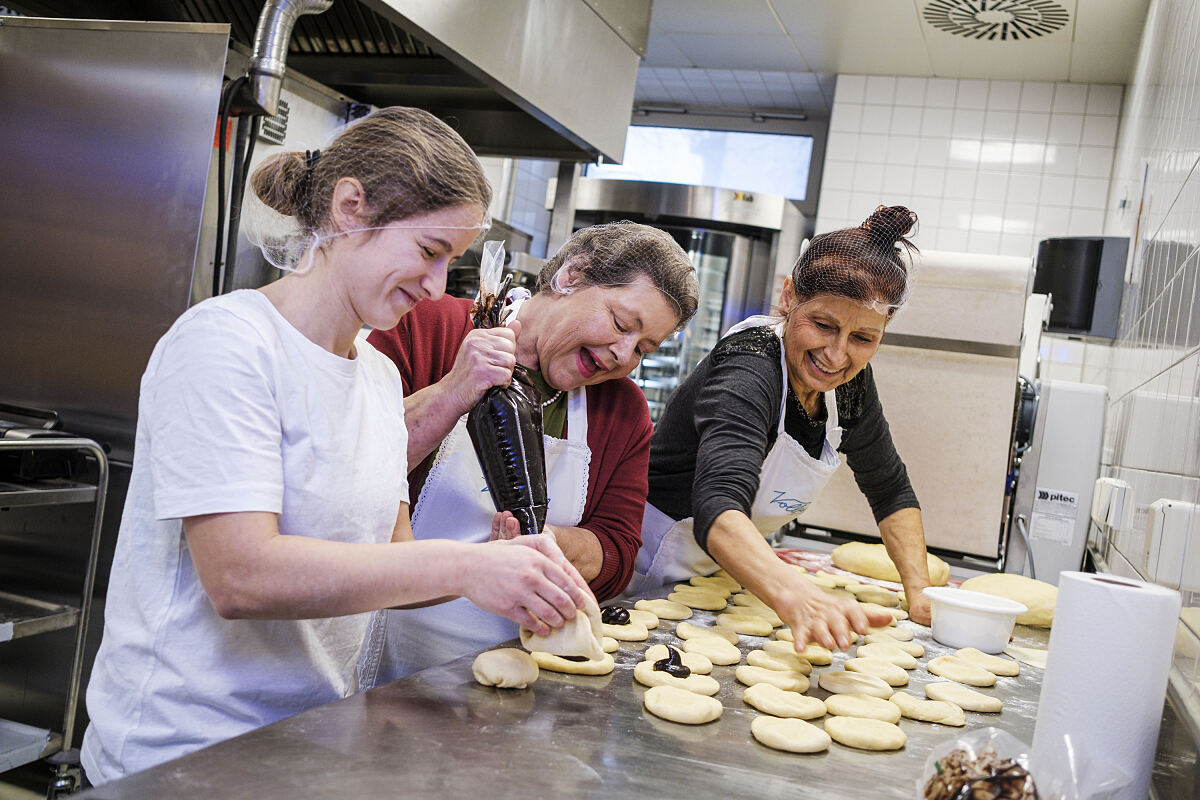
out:
{"label": "white apron worn by the woman in the red cardigan", "polygon": [[[486,542],[496,506],[475,450],[467,417],[443,440],[413,512],[413,536]],[[583,518],[588,494],[587,389],[566,399],[566,439],[545,437],[546,522],[575,527]],[[427,608],[382,610],[373,615],[360,658],[359,685],[370,688],[426,667],[515,638],[517,624],[485,612],[460,597]]]}

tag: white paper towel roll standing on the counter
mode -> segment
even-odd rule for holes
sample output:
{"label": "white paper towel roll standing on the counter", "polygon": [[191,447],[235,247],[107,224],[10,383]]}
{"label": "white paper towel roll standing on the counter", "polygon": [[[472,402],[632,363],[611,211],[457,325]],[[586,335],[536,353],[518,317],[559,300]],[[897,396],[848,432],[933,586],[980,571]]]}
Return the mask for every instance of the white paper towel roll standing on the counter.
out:
{"label": "white paper towel roll standing on the counter", "polygon": [[1031,750],[1040,792],[1056,781],[1066,787],[1074,762],[1080,798],[1147,796],[1178,618],[1172,589],[1110,575],[1058,577]]}

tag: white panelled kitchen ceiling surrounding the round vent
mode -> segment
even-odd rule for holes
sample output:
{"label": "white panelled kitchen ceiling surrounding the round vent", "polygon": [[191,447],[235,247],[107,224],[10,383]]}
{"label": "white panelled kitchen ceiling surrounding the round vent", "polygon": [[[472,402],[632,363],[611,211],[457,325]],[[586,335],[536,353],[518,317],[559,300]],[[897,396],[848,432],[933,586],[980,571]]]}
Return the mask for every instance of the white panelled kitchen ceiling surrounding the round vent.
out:
{"label": "white panelled kitchen ceiling surrounding the round vent", "polygon": [[[803,109],[828,116],[833,74],[1123,84],[1150,0],[653,0],[636,102]],[[936,28],[926,6],[958,19],[1033,13],[1057,30],[1012,41]],[[1050,13],[1046,13],[1050,12]],[[1026,17],[1028,18],[1028,17]],[[998,30],[998,29],[992,29]],[[1009,29],[1010,30],[1010,29]]]}

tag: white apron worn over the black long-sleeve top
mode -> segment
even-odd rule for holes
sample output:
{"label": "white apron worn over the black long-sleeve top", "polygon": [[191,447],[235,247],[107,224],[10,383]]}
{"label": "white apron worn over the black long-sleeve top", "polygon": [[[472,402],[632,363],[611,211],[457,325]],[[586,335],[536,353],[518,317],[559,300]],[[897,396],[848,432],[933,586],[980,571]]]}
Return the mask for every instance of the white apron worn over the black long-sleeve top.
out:
{"label": "white apron worn over the black long-sleeve top", "polygon": [[[731,327],[726,336],[750,327],[770,325],[780,337],[779,360],[784,373],[784,398],[779,407],[779,433],[758,470],[758,492],[750,506],[750,522],[763,536],[769,536],[796,519],[816,499],[841,463],[838,445],[838,403],[834,392],[824,393],[826,439],[821,458],[814,458],[784,432],[787,410],[787,360],[782,348],[782,323],[778,317],[751,317]],[[646,504],[642,516],[642,549],[637,553],[634,579],[625,596],[640,596],[665,583],[686,581],[694,575],[712,575],[719,566],[708,557],[692,534],[692,518],[674,521]]]}

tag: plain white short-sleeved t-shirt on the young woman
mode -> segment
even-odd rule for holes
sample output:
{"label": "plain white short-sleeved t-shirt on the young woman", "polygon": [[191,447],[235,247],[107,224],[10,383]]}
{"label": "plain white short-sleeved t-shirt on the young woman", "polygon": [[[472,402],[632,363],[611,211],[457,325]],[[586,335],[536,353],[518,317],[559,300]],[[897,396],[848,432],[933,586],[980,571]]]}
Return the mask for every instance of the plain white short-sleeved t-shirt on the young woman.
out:
{"label": "plain white short-sleeved t-shirt on the young woman", "polygon": [[222,619],[180,522],[265,511],[286,535],[389,541],[408,500],[403,391],[391,361],[355,349],[320,348],[254,290],[194,306],[158,341],[88,686],[94,783],[356,690],[367,614]]}

